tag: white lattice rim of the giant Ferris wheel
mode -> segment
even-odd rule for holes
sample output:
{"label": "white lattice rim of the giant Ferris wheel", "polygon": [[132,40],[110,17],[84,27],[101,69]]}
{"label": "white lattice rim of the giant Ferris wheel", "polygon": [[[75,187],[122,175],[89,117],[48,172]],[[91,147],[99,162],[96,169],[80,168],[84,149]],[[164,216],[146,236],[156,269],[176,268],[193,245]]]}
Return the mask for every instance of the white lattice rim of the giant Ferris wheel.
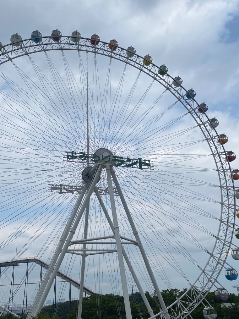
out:
{"label": "white lattice rim of the giant Ferris wheel", "polygon": [[[108,48],[107,42],[99,41],[97,46],[92,46],[89,38],[81,38],[78,43],[74,43],[71,40],[71,36],[62,36],[58,43],[54,42],[52,37],[41,37],[40,43],[35,43],[33,39],[26,39],[21,41],[21,47],[15,47],[13,44],[8,44],[2,47],[0,54],[0,65],[14,61],[14,59],[31,55],[37,52],[47,52],[56,50],[76,50],[84,51],[88,53],[94,53],[99,55],[108,56],[112,59],[117,59],[123,63],[134,66],[134,68],[146,73],[148,76],[157,81],[160,85],[163,85],[175,99],[177,99],[190,113],[192,118],[199,126],[202,134],[204,135],[211,153],[213,154],[216,169],[218,170],[220,188],[221,188],[221,217],[220,226],[218,229],[217,237],[215,238],[214,248],[211,252],[208,252],[209,258],[201,273],[196,278],[192,287],[189,287],[185,293],[178,298],[171,306],[177,302],[182,303],[188,313],[190,313],[199,302],[203,301],[201,296],[206,296],[205,291],[209,291],[210,288],[217,282],[217,279],[223,269],[226,261],[232,236],[234,233],[235,225],[235,197],[234,197],[234,182],[232,179],[230,164],[228,160],[225,160],[226,150],[223,145],[217,144],[219,134],[215,128],[210,128],[209,117],[205,114],[198,114],[195,110],[199,107],[199,103],[192,98],[186,99],[185,94],[188,92],[182,85],[175,87],[172,85],[174,78],[168,73],[160,76],[158,74],[159,67],[151,63],[150,66],[142,65],[142,56],[134,54],[134,57],[127,56],[127,49],[118,47],[117,50],[111,51]],[[226,229],[226,230],[225,230]],[[223,239],[222,239],[223,238]],[[192,293],[193,290],[193,293]],[[185,306],[183,298],[191,293],[190,305]],[[170,307],[171,307],[170,306]],[[168,308],[170,308],[168,307]],[[185,313],[186,315],[186,313]],[[183,318],[183,317],[182,317]]]}

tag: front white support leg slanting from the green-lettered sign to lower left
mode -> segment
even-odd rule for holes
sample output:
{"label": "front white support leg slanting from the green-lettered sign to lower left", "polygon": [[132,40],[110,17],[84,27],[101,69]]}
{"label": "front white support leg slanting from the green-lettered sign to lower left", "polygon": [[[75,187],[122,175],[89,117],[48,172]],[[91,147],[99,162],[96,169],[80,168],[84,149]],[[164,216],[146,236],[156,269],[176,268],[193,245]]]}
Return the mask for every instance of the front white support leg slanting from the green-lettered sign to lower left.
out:
{"label": "front white support leg slanting from the green-lettered sign to lower left", "polygon": [[83,203],[82,203],[82,205],[81,205],[81,207],[79,209],[79,212],[77,212],[77,216],[75,218],[75,221],[74,221],[74,223],[73,223],[73,225],[72,225],[72,227],[71,227],[71,229],[69,231],[69,235],[68,235],[68,237],[67,237],[67,239],[66,239],[66,241],[64,243],[64,246],[63,246],[62,251],[60,253],[60,256],[58,257],[58,260],[57,260],[57,262],[55,264],[54,270],[51,273],[49,281],[46,284],[46,288],[45,288],[45,290],[44,290],[44,292],[43,292],[43,294],[41,296],[41,299],[39,300],[39,304],[38,304],[34,314],[32,314],[31,316],[35,317],[41,311],[41,308],[43,307],[43,304],[44,304],[44,302],[45,302],[45,300],[47,298],[47,295],[48,295],[48,293],[50,291],[50,288],[51,288],[51,286],[53,284],[53,281],[54,281],[54,278],[55,278],[55,276],[57,274],[57,271],[59,270],[59,268],[61,266],[62,260],[63,260],[65,254],[66,254],[66,251],[67,251],[67,249],[69,247],[69,244],[70,244],[70,242],[72,240],[72,237],[74,236],[74,234],[76,232],[76,228],[77,228],[77,226],[78,226],[78,224],[79,224],[79,222],[80,222],[80,220],[82,218],[82,215],[83,215],[83,212],[84,212],[84,210],[85,210],[85,208],[87,206],[87,203],[90,200],[91,194],[92,194],[92,192],[94,190],[94,187],[95,187],[95,185],[96,185],[96,183],[98,181],[98,178],[100,176],[101,170],[102,170],[102,165],[99,165],[99,167],[97,169],[97,172],[96,172],[96,174],[95,174],[95,176],[93,178],[93,181],[90,183],[90,187],[89,187],[89,184],[88,184],[89,189],[88,189],[87,195],[85,196],[85,198],[83,200]]}

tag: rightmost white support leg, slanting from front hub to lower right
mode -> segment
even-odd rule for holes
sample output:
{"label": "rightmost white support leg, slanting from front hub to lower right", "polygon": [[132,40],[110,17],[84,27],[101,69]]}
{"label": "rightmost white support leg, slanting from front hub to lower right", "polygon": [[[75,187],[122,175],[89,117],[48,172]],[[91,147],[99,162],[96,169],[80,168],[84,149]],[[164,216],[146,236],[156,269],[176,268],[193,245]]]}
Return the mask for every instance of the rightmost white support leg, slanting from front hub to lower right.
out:
{"label": "rightmost white support leg, slanting from front hub to lower right", "polygon": [[157,282],[156,282],[156,279],[155,279],[155,277],[154,277],[154,274],[153,274],[152,268],[151,268],[151,266],[150,266],[150,263],[149,263],[149,261],[148,261],[147,255],[146,255],[146,253],[145,253],[145,250],[143,249],[143,246],[142,246],[142,243],[141,243],[141,240],[140,240],[140,237],[139,237],[139,233],[138,233],[138,231],[137,231],[137,229],[136,229],[136,227],[135,227],[135,225],[134,225],[134,220],[133,220],[133,218],[132,218],[132,216],[131,216],[131,213],[130,213],[130,211],[129,211],[129,209],[128,209],[128,205],[127,205],[127,203],[126,203],[126,201],[125,201],[124,195],[123,195],[123,193],[122,193],[122,191],[121,191],[120,184],[119,184],[119,182],[118,182],[118,180],[117,180],[117,177],[116,177],[116,175],[115,175],[115,172],[114,172],[113,168],[111,168],[111,174],[112,174],[112,178],[113,178],[114,184],[115,184],[115,186],[116,186],[116,189],[117,189],[117,191],[118,191],[118,193],[119,193],[120,200],[121,200],[121,202],[122,202],[122,204],[123,204],[123,207],[124,207],[124,210],[125,210],[125,212],[126,212],[128,221],[129,221],[130,226],[131,226],[131,228],[132,228],[132,231],[133,231],[133,233],[134,233],[135,239],[136,239],[136,241],[139,242],[139,249],[140,249],[141,255],[142,255],[142,257],[143,257],[143,261],[144,261],[144,263],[145,263],[145,266],[146,266],[146,269],[147,269],[147,271],[148,271],[149,277],[150,277],[150,279],[151,279],[151,281],[152,281],[152,284],[153,284],[153,286],[154,286],[154,289],[155,289],[155,291],[156,291],[158,300],[159,300],[160,305],[161,305],[161,307],[162,307],[163,315],[164,315],[165,319],[170,319],[168,309],[167,309],[167,307],[166,307],[166,305],[165,305],[165,303],[164,303],[163,297],[162,297],[161,292],[160,292],[160,290],[159,290],[159,287],[158,287],[158,285],[157,285]]}

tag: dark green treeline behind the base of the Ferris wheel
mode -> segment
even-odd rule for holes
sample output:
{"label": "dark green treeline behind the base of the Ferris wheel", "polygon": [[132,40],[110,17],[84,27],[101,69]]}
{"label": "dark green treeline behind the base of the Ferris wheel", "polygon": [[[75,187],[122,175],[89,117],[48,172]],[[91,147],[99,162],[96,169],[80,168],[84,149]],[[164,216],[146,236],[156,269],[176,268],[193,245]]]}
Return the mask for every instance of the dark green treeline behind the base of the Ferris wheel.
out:
{"label": "dark green treeline behind the base of the Ferris wheel", "polygon": [[[172,304],[176,299],[175,296],[180,297],[185,290],[179,291],[178,289],[167,289],[162,291],[163,300],[166,306]],[[156,314],[159,310],[158,300],[156,295],[145,293],[153,312]],[[144,305],[140,293],[133,293],[129,295],[130,306],[133,319],[147,319],[149,317],[147,308]],[[217,319],[238,319],[239,318],[239,297],[234,293],[229,294],[226,303],[234,303],[234,306],[229,308],[221,307],[223,302],[216,299],[215,293],[207,294],[206,299],[212,307],[217,311]],[[42,308],[40,314],[35,319],[76,319],[77,317],[77,300],[66,301]],[[204,319],[202,314],[204,306],[199,305],[192,313],[193,319]],[[25,317],[25,316],[23,316]],[[89,297],[83,298],[82,319],[126,319],[124,299],[122,296],[106,294],[99,295],[93,294]],[[5,315],[4,319],[14,319],[10,314]]]}

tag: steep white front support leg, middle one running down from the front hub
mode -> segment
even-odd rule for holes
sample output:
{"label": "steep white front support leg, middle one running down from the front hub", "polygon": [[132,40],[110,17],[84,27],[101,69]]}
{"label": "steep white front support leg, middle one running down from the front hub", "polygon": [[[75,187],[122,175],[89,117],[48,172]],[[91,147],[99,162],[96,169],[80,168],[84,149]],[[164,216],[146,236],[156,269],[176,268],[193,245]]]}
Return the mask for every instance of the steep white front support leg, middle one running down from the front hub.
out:
{"label": "steep white front support leg, middle one running down from the front hub", "polygon": [[112,185],[111,172],[110,172],[109,165],[106,166],[106,174],[107,174],[107,181],[108,181],[109,194],[110,194],[115,242],[116,242],[118,260],[119,260],[120,279],[121,279],[121,285],[122,285],[123,296],[124,296],[125,314],[127,319],[132,319],[130,303],[129,303],[129,293],[127,289],[124,259],[122,254],[122,245],[120,240],[120,229],[118,225],[117,212],[116,212],[115,201],[114,201],[113,185]]}

